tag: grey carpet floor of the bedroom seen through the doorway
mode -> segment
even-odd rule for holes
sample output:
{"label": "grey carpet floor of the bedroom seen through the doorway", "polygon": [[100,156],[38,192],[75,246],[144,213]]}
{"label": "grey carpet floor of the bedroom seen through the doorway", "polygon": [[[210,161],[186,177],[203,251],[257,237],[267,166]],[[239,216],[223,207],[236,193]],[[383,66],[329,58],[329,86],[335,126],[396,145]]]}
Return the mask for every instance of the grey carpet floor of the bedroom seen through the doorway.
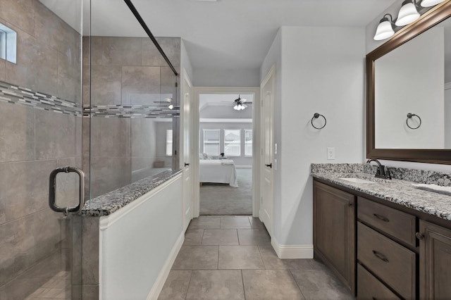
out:
{"label": "grey carpet floor of the bedroom seen through the doorway", "polygon": [[201,215],[252,215],[252,168],[237,168],[238,187],[204,183],[200,187]]}

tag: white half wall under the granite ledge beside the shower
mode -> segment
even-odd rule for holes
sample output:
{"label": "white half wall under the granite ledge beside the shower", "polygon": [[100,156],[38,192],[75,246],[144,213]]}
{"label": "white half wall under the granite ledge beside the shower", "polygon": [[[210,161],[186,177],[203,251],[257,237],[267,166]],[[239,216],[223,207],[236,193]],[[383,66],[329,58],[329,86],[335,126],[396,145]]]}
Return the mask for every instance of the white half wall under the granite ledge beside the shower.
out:
{"label": "white half wall under the granite ledge beside the shower", "polygon": [[101,217],[100,299],[156,299],[183,243],[182,214],[178,175]]}

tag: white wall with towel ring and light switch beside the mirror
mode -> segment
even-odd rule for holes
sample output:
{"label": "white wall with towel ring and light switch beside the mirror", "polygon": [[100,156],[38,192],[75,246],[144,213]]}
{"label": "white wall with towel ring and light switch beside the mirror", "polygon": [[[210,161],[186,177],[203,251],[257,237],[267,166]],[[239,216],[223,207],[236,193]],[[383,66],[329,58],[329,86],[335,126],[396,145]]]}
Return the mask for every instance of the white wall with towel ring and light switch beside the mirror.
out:
{"label": "white wall with towel ring and light switch beside the mirror", "polygon": [[[274,238],[279,244],[313,243],[311,163],[363,160],[365,32],[359,27],[282,27],[261,68],[275,62]],[[280,67],[281,63],[281,67]],[[310,125],[314,113],[323,130]],[[335,161],[326,148],[335,147]]]}

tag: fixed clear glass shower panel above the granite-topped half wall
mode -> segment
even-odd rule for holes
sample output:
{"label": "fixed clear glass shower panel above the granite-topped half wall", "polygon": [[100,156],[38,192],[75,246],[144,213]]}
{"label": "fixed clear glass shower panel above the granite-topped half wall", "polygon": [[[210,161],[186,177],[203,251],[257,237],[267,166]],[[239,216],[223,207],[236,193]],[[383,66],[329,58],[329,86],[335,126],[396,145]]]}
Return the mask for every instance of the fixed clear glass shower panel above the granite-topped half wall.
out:
{"label": "fixed clear glass shower panel above the granite-topped half wall", "polygon": [[[146,2],[132,1],[143,18]],[[180,69],[180,38],[156,40]],[[90,70],[83,73],[83,89],[90,91],[83,102],[90,132],[83,163],[97,207],[108,199],[98,196],[178,168],[178,77],[124,0],[91,1],[91,32],[83,42],[91,54],[83,61]]]}

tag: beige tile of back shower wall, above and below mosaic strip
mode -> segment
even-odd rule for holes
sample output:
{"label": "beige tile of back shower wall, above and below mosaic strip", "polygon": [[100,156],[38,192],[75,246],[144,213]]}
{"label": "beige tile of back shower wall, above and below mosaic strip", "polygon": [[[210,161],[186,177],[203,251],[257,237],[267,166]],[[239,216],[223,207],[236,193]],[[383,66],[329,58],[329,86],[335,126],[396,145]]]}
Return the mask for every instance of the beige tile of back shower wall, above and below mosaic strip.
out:
{"label": "beige tile of back shower wall, above and below mosaic strip", "polygon": [[[156,39],[179,70],[180,38]],[[175,76],[148,37],[83,37],[82,82],[84,104],[92,106],[153,105],[154,101],[168,97],[175,99],[176,95]],[[165,166],[171,167],[170,158],[156,153],[157,144],[166,146],[166,136],[157,139],[155,119],[96,117],[90,121],[92,197],[152,175],[155,161],[165,161]],[[84,120],[83,138],[83,163],[87,168],[87,119]]]}

